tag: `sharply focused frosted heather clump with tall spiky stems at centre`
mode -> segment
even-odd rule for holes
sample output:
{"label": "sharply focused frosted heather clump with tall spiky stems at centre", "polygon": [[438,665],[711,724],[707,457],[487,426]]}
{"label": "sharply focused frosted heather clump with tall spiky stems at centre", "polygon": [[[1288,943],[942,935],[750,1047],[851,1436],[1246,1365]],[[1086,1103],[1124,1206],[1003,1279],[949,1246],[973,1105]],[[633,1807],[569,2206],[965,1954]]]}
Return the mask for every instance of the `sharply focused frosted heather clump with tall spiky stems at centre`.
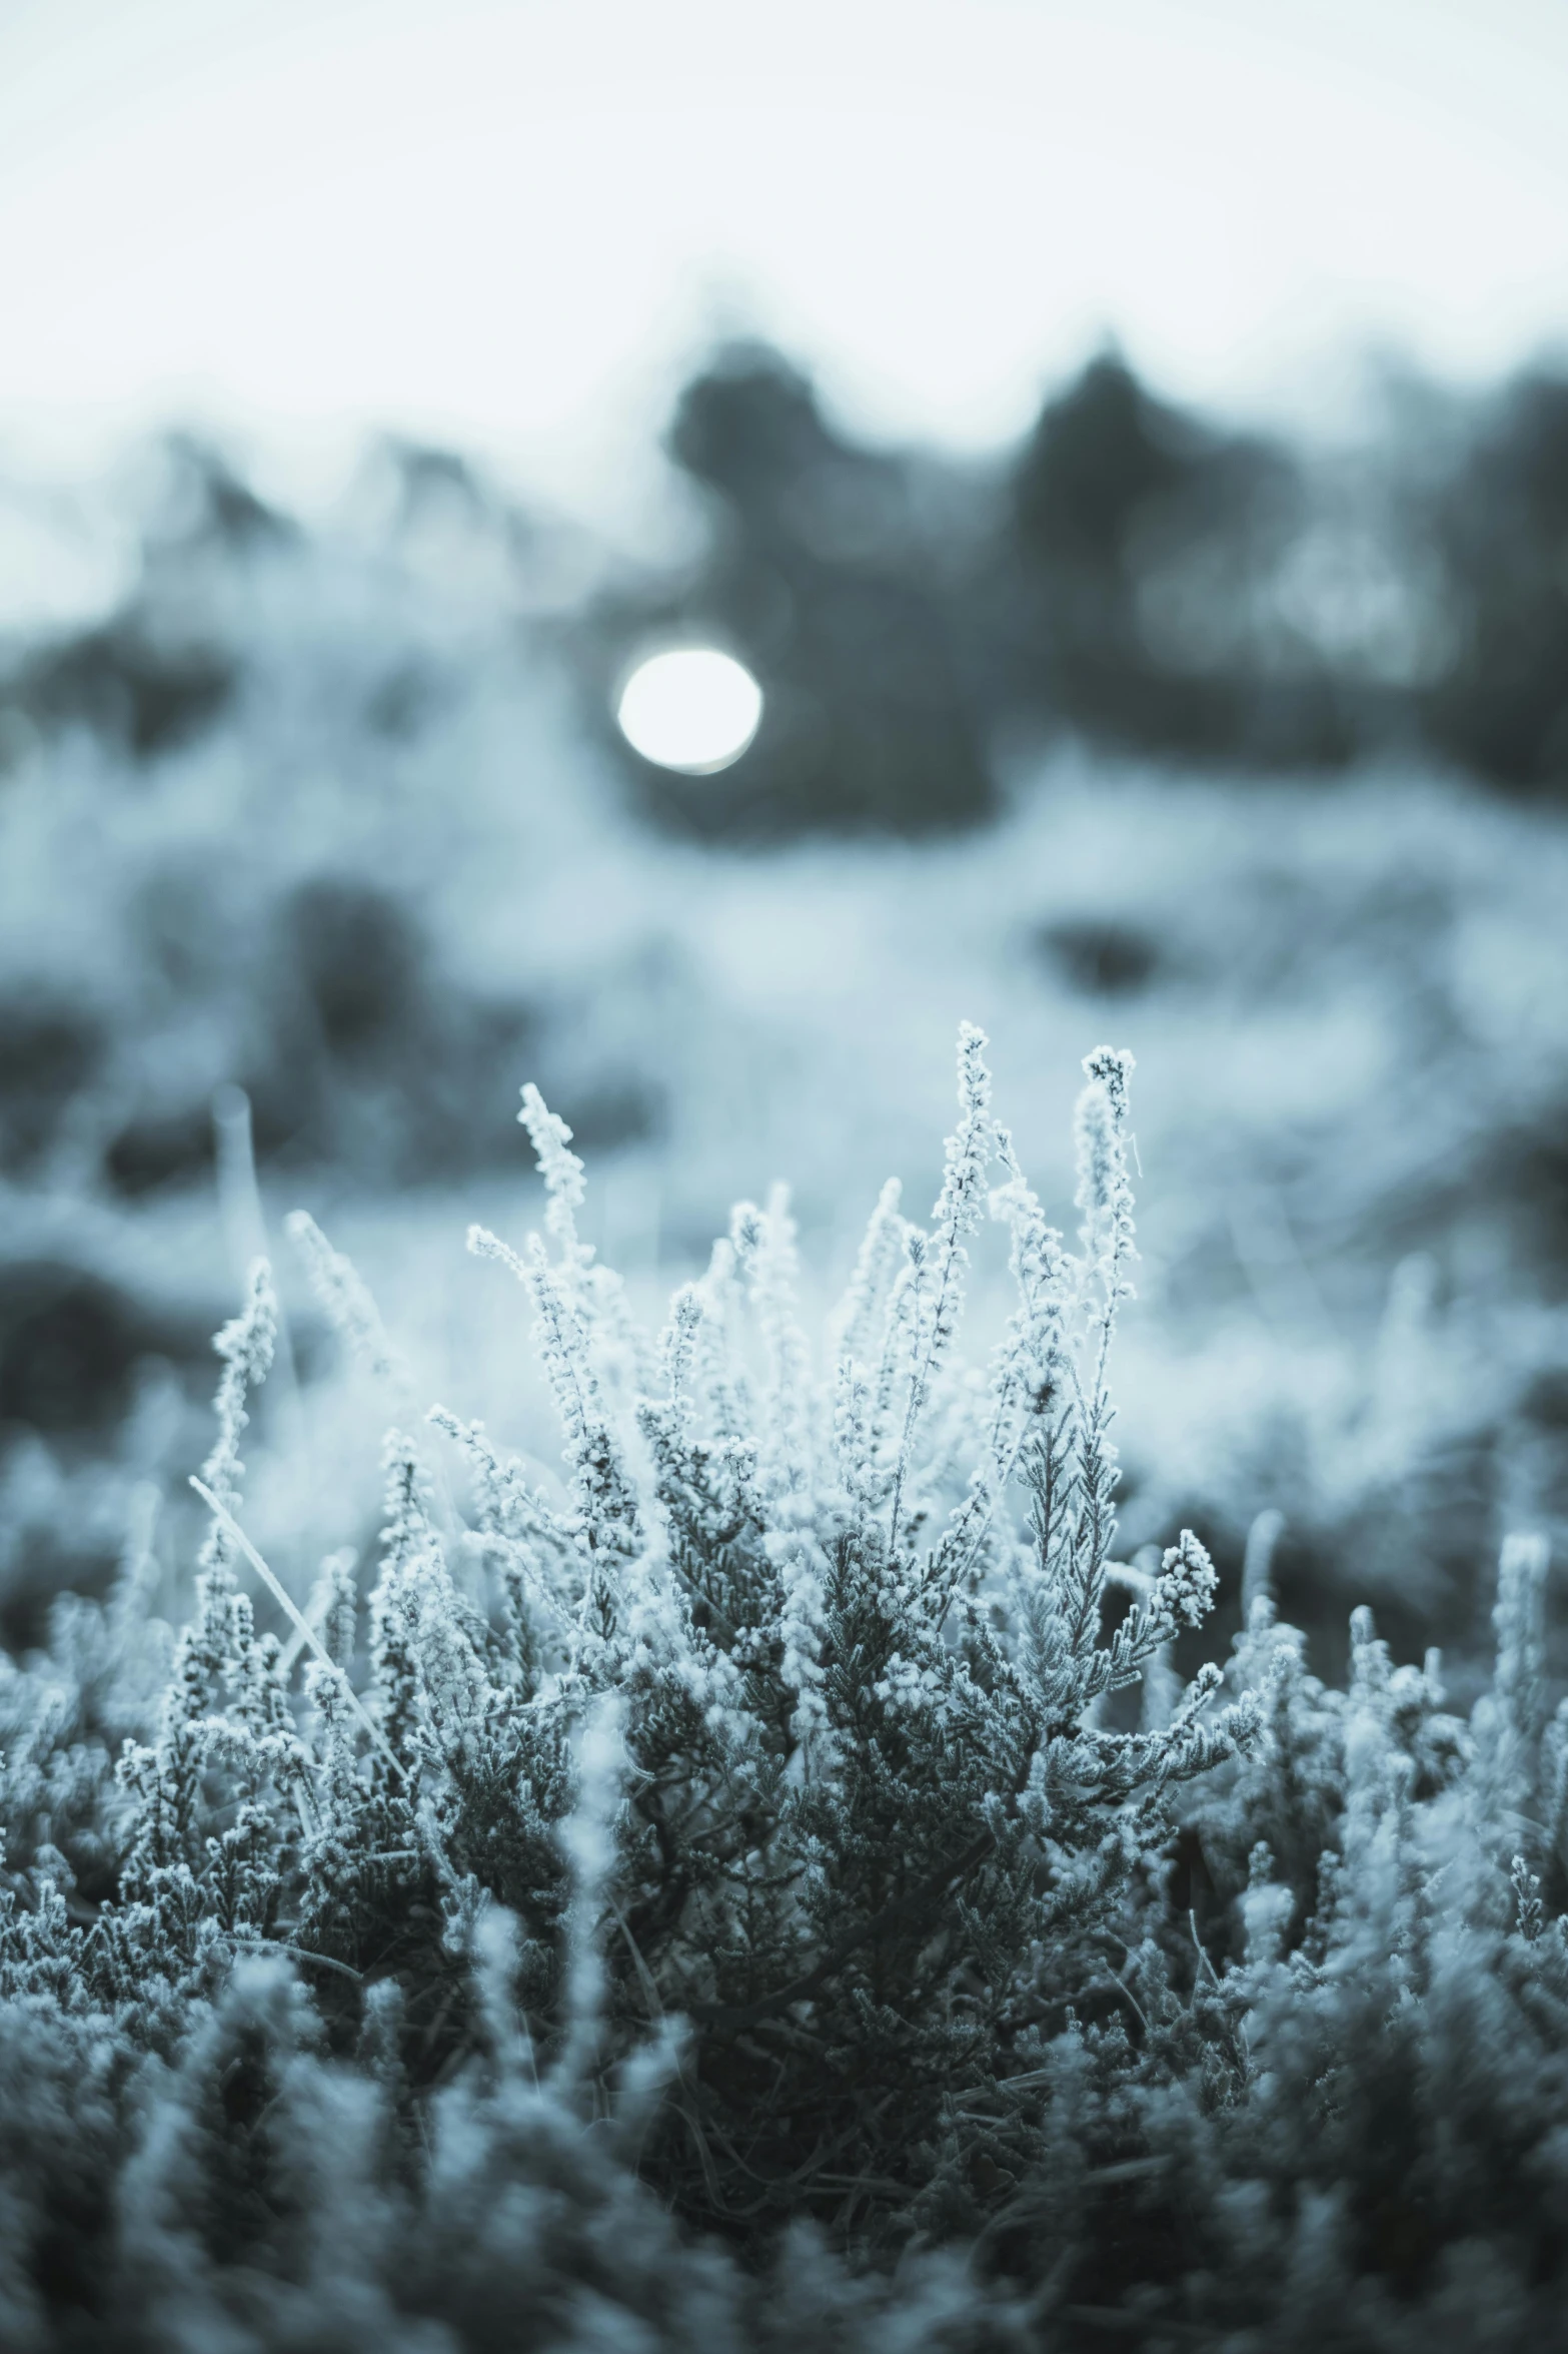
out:
{"label": "sharply focused frosted heather clump with tall spiky stems at centre", "polygon": [[[1098,1723],[1215,1584],[1190,1532],[1150,1580],[1112,1561],[1128,1073],[1110,1050],[1086,1062],[1074,1255],[992,1118],[966,1026],[933,1222],[882,1193],[820,1363],[783,1191],[736,1210],[658,1344],[632,1335],[578,1241],[569,1130],[527,1090],[545,1236],[512,1250],[475,1229],[473,1248],[531,1302],[562,1488],[437,1410],[473,1481],[454,1551],[421,1448],[393,1434],[367,1683],[350,1683],[357,1605],[336,1561],[301,1615],[308,1740],[235,1587],[237,1561],[275,1587],[235,1518],[273,1314],[256,1271],[219,1344],[197,1612],[162,1735],[120,1768],[127,1888],[179,1893],[202,1951],[266,1935],[315,1956],[329,2006],[390,1968],[430,2062],[470,2032],[463,1956],[484,1907],[505,1907],[545,2060],[559,2043],[571,2074],[614,2072],[686,2022],[654,2142],[693,2213],[755,2206],[757,2185],[771,2210],[769,2182],[825,2213],[860,2180],[884,2185],[872,2208],[889,2180],[914,2196],[961,2086],[999,2100],[997,2133],[1023,2147],[1034,2128],[999,2093],[1016,2055],[1060,2022],[1084,1940],[1168,1836],[1171,1791],[1260,1723],[1255,1700],[1213,1709],[1213,1671],[1161,1725]],[[987,1210],[1018,1309],[978,1377],[959,1332]],[[348,1337],[386,1356],[348,1262],[315,1226],[294,1233]],[[609,1702],[623,1782],[583,1878],[567,1836],[588,1820],[581,1728]]]}

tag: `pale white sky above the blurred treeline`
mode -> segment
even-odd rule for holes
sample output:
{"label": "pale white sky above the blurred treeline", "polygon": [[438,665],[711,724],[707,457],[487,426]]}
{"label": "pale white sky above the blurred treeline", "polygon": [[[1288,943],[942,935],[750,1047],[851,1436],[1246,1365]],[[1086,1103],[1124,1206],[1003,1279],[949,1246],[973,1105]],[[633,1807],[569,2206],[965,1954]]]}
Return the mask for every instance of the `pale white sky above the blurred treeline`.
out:
{"label": "pale white sky above the blurred treeline", "polygon": [[1568,332],[1568,0],[0,0],[0,450],[614,504],[715,325],[971,447],[1107,332],[1295,417],[1483,377]]}

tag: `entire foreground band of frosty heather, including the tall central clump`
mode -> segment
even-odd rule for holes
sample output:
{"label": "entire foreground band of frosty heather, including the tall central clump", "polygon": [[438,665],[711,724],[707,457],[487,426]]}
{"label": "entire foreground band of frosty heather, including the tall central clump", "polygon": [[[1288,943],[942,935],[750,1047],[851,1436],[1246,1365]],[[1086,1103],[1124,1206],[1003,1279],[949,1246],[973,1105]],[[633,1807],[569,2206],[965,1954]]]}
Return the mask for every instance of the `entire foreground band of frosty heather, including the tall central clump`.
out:
{"label": "entire foreground band of frosty heather, including the tall central clump", "polygon": [[[254,1269],[179,1641],[132,1551],[0,1678],[7,2345],[1549,2333],[1544,1547],[1505,1551],[1469,1723],[1366,1612],[1326,1690],[1262,1556],[1180,1685],[1215,1572],[1190,1530],[1114,1558],[1131,1057],[1086,1078],[1070,1250],[964,1031],[933,1219],[884,1189],[820,1372],[783,1196],[654,1342],[524,1090],[545,1236],[470,1243],[527,1290],[567,1476],[442,1408],[395,1431],[367,1605],[336,1554],[299,1610],[244,1532]],[[969,1368],[987,1212],[1016,1311]]]}

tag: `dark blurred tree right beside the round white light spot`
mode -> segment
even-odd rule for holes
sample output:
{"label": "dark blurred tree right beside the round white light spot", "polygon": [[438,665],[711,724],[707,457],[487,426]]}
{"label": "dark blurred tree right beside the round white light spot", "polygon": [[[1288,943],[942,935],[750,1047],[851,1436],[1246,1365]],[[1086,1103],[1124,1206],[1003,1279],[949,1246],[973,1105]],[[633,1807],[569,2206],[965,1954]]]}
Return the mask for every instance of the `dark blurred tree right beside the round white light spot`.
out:
{"label": "dark blurred tree right beside the round white light spot", "polygon": [[722,784],[625,753],[651,814],[752,838],[990,817],[914,461],[835,433],[806,377],[759,344],[722,351],[686,386],[668,447],[710,499],[710,546],[684,581],[599,605],[599,645],[623,664],[639,640],[712,638],[750,664],[766,709]]}

